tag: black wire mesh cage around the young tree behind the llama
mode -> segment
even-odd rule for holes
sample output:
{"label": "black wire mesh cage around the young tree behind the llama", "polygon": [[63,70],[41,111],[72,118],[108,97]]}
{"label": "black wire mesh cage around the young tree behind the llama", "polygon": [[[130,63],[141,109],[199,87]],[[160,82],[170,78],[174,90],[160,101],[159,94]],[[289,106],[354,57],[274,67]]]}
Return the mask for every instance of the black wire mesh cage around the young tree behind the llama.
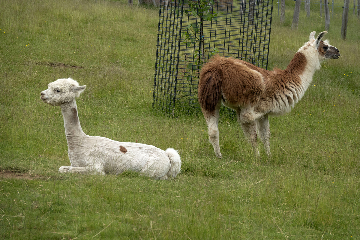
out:
{"label": "black wire mesh cage around the young tree behind the llama", "polygon": [[199,112],[199,71],[212,55],[267,69],[272,10],[272,0],[161,0],[153,109]]}

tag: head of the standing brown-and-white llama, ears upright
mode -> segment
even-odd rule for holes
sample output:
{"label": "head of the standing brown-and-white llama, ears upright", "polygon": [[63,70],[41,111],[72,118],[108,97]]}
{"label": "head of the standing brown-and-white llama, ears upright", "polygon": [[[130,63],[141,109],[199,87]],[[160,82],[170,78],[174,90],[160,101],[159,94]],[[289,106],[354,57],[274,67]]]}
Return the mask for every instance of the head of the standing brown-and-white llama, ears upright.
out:
{"label": "head of the standing brown-and-white llama, ears upright", "polygon": [[338,59],[340,56],[340,51],[336,47],[331,46],[328,40],[321,40],[326,33],[327,31],[320,32],[316,39],[315,32],[310,33],[309,42],[312,42],[314,44],[314,47],[319,54],[320,61],[332,58]]}

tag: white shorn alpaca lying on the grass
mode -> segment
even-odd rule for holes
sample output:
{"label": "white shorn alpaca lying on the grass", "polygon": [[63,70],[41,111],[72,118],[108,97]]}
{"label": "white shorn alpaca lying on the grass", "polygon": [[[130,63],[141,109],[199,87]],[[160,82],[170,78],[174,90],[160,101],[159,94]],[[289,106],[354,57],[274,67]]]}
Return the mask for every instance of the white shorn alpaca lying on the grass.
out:
{"label": "white shorn alpaca lying on the grass", "polygon": [[155,179],[175,178],[180,172],[181,160],[175,149],[165,151],[152,145],[136,142],[118,142],[105,137],[86,135],[80,126],[75,98],[86,86],[79,86],[71,78],[58,79],[41,92],[40,99],[59,106],[64,117],[70,166],[59,168],[60,173],[120,174],[140,172]]}

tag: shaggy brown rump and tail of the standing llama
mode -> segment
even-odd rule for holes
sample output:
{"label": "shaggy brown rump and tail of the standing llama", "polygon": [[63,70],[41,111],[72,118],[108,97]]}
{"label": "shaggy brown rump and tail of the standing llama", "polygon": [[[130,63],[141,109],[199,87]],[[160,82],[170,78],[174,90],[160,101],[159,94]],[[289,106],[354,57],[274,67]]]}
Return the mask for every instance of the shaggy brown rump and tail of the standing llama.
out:
{"label": "shaggy brown rump and tail of the standing llama", "polygon": [[232,105],[254,105],[264,92],[262,75],[233,58],[217,55],[202,67],[198,87],[202,109],[212,111],[220,98]]}

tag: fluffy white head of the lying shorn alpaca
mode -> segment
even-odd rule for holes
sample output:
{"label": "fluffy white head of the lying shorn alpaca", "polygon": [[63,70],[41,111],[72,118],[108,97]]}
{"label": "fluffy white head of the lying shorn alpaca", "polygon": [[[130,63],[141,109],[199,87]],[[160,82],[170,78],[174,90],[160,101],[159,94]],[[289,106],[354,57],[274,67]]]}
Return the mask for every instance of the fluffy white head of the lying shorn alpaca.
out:
{"label": "fluffy white head of the lying shorn alpaca", "polygon": [[79,86],[77,81],[71,78],[61,78],[55,82],[50,82],[48,89],[41,92],[40,99],[44,103],[58,106],[77,98],[85,88],[86,85]]}

